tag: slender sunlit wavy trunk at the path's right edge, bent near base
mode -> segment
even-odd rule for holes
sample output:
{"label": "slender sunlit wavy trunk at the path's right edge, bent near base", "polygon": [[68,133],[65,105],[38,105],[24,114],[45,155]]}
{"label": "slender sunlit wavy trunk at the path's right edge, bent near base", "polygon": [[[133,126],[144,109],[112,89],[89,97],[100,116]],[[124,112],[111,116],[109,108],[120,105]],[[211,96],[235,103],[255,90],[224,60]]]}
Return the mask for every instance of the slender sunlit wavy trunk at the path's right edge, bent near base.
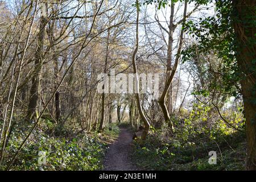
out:
{"label": "slender sunlit wavy trunk at the path's right edge, bent near base", "polygon": [[135,85],[135,97],[136,97],[137,104],[138,104],[139,115],[141,116],[141,119],[145,126],[141,139],[145,140],[147,137],[148,130],[150,129],[150,123],[147,121],[147,118],[144,115],[142,105],[141,105],[141,96],[139,94],[139,80],[138,80],[138,72],[137,72],[137,65],[136,65],[136,56],[137,56],[138,49],[139,49],[139,1],[138,0],[136,0],[136,5],[137,5],[136,45],[135,45],[135,49],[133,52],[133,72],[136,75],[135,76],[135,84],[136,84]]}

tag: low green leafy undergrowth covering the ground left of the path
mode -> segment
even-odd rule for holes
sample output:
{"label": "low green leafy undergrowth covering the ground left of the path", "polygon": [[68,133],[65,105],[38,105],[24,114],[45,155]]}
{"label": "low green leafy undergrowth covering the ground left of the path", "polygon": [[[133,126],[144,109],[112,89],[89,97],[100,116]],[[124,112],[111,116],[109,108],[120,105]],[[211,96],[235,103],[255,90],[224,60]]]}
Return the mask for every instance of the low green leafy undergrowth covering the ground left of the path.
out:
{"label": "low green leafy undergrowth covering the ground left of the path", "polygon": [[[40,126],[32,133],[10,170],[101,170],[108,143],[119,133],[118,126],[112,124],[106,126],[103,134],[84,131],[72,134],[64,129],[66,132],[56,137],[48,134],[47,127]],[[14,129],[6,147],[2,170],[6,169],[26,135],[27,129]]]}

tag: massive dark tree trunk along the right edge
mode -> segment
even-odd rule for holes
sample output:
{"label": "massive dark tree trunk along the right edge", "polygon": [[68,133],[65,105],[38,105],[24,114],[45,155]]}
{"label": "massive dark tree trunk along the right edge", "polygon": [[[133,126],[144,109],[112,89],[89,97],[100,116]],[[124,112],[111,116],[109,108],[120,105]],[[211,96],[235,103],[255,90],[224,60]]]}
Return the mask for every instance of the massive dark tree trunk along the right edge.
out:
{"label": "massive dark tree trunk along the right edge", "polygon": [[256,170],[256,16],[255,0],[232,1],[237,38],[237,63],[241,69],[241,87],[246,118],[246,167]]}

